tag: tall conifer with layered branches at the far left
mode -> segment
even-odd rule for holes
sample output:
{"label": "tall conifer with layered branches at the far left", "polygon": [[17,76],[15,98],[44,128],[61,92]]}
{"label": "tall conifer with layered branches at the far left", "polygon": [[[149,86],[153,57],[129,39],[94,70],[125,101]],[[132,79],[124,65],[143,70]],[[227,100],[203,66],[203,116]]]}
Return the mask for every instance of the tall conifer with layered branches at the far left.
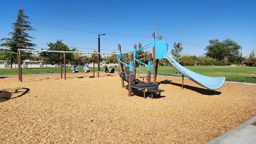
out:
{"label": "tall conifer with layered branches at the far left", "polygon": [[[17,50],[18,49],[31,49],[32,46],[36,46],[34,43],[31,43],[30,39],[34,37],[29,36],[28,31],[35,31],[30,26],[30,22],[26,21],[29,17],[24,14],[23,9],[18,9],[17,20],[15,23],[12,23],[13,32],[10,32],[9,35],[12,35],[11,38],[2,38],[4,43],[1,43],[0,46],[4,46],[9,49],[1,50],[1,57],[10,64],[10,69],[12,69],[12,63],[17,63]],[[22,52],[21,59],[29,59],[32,57],[31,52]]]}

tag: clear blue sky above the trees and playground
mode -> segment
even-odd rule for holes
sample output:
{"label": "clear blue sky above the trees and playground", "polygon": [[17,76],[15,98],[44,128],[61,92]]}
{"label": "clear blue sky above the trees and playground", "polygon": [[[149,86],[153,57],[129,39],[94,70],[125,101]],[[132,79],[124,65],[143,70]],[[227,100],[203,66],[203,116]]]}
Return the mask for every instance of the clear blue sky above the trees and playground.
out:
{"label": "clear blue sky above the trees and playground", "polygon": [[[183,44],[182,54],[202,55],[209,39],[227,37],[242,46],[243,56],[256,49],[256,0],[2,0],[0,38],[12,31],[17,9],[24,9],[36,32],[29,32],[38,47],[58,39],[81,47],[112,52],[121,44],[151,42],[159,20],[160,35],[169,43]],[[117,35],[115,35],[117,34]],[[170,50],[169,50],[170,52]]]}

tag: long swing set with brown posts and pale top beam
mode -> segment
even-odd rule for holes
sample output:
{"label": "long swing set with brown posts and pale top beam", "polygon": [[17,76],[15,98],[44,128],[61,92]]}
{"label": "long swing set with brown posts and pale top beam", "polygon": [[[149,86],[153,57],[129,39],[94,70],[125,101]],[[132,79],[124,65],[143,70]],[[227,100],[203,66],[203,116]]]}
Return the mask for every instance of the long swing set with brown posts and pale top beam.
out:
{"label": "long swing set with brown posts and pale top beam", "polygon": [[[94,57],[96,54],[100,55],[117,55],[116,53],[107,53],[107,52],[72,52],[72,51],[51,51],[51,50],[37,50],[37,49],[18,49],[17,51],[17,60],[18,60],[18,80],[20,82],[22,82],[22,67],[21,67],[21,52],[22,51],[27,51],[27,52],[55,52],[55,53],[60,53],[60,69],[61,69],[61,78],[63,78],[62,74],[62,57],[64,58],[64,79],[66,80],[66,55],[65,53],[80,53],[80,54],[93,54],[93,76],[91,78],[93,78],[95,76],[95,63],[94,63]],[[98,57],[98,66],[99,66],[99,58]],[[78,70],[76,69],[76,66],[72,65],[71,71],[73,73],[78,72]],[[90,70],[87,68],[87,66],[84,67],[84,72],[90,72]],[[98,78],[99,78],[99,70],[98,72]],[[48,72],[48,73],[53,73],[53,72]]]}

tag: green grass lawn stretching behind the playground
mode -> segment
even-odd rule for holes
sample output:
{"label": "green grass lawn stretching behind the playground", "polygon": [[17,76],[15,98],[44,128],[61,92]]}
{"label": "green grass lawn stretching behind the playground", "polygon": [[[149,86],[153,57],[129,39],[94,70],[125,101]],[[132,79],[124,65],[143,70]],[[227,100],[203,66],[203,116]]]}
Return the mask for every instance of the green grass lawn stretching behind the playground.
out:
{"label": "green grass lawn stretching behind the playground", "polygon": [[[256,83],[256,67],[249,66],[185,66],[187,69],[197,72],[201,75],[207,76],[224,76],[226,81],[239,81],[247,83]],[[89,67],[92,70],[92,67]],[[101,68],[104,70],[103,68]],[[118,70],[115,67],[116,71]],[[140,67],[137,67],[137,73]],[[83,72],[83,68],[78,68],[79,72]],[[147,68],[141,67],[142,72],[146,73]],[[0,69],[0,75],[17,75],[17,69]],[[32,72],[47,73],[52,72],[59,73],[59,68],[35,68],[35,69],[22,69],[23,74],[32,74]],[[67,67],[67,72],[71,72],[71,68]],[[173,66],[159,66],[157,75],[168,76],[181,76],[177,75],[177,70]],[[153,73],[153,72],[152,72]]]}

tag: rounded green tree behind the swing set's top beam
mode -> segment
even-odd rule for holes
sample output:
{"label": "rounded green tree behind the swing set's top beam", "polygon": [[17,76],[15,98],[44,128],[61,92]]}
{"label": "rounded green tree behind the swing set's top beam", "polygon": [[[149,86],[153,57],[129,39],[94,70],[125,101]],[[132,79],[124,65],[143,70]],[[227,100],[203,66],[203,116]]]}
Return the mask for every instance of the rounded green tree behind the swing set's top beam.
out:
{"label": "rounded green tree behind the swing set's top beam", "polygon": [[[69,49],[66,44],[62,43],[62,40],[57,40],[55,43],[50,42],[48,46],[49,46],[49,49],[47,50],[52,50],[52,51],[75,51],[76,50],[76,48]],[[72,53],[65,53],[65,55],[66,55],[66,63],[68,61],[74,60],[74,55]],[[61,61],[64,62],[64,58],[60,60],[60,53],[41,52],[39,53],[39,57],[41,58],[41,60],[49,60],[48,62],[52,65],[60,64]],[[43,62],[46,63],[47,61],[43,61]]]}

